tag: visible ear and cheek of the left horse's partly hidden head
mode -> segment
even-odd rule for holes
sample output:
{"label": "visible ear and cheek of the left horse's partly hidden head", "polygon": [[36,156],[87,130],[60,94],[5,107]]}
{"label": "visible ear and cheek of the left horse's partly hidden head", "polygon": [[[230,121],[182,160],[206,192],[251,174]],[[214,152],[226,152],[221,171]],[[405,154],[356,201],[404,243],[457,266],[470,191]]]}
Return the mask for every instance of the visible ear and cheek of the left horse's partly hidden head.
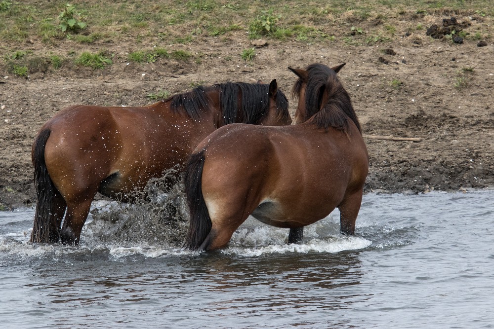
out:
{"label": "visible ear and cheek of the left horse's partly hidden head", "polygon": [[260,125],[263,126],[286,126],[291,124],[291,116],[288,112],[288,100],[285,94],[278,90],[276,79],[269,84],[269,104]]}

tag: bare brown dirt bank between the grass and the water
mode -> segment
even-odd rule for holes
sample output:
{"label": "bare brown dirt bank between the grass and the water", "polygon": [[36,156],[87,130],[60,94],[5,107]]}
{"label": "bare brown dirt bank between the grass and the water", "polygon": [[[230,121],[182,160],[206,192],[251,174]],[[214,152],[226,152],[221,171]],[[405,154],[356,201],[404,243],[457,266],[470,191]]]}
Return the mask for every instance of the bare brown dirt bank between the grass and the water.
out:
{"label": "bare brown dirt bank between the grass and the water", "polygon": [[[410,19],[429,27],[447,17]],[[469,21],[467,29],[472,32],[492,24],[480,16],[456,19]],[[369,24],[366,30],[371,31]],[[400,27],[399,21],[396,26]],[[367,191],[417,193],[493,186],[491,40],[480,47],[479,40],[453,43],[428,37],[425,29],[406,34],[398,28],[392,40],[375,44],[348,44],[341,39],[315,44],[267,41],[255,48],[252,62],[239,55],[253,47],[251,40],[245,32],[236,31],[226,37],[198,37],[189,44],[166,45],[169,50],[202,54],[201,63],[163,58],[150,64],[129,63],[131,43],[107,43],[104,47],[115,57],[105,70],[67,65],[56,71],[30,72],[24,78],[7,73],[0,65],[0,204],[15,208],[36,202],[31,145],[41,125],[67,106],[146,105],[154,102],[146,95],[160,90],[174,94],[198,83],[269,82],[276,78],[293,113],[296,102],[290,92],[296,76],[287,67],[303,68],[314,62],[328,66],[346,63],[339,77],[352,97],[366,136],[370,155]],[[66,40],[49,48],[30,40],[25,48],[67,53],[98,51],[101,45]],[[422,140],[386,141],[369,135]]]}

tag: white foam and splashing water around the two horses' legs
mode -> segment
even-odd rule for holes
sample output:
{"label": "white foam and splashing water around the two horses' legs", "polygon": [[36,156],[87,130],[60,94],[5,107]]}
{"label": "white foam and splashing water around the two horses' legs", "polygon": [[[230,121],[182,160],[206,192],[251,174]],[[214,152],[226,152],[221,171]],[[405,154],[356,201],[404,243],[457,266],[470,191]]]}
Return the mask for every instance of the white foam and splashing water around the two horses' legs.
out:
{"label": "white foam and splashing water around the two horses' legs", "polygon": [[[30,244],[29,237],[32,228],[24,227],[17,232],[6,232],[0,235],[0,253],[4,258],[1,263],[8,262],[6,258],[57,258],[58,256],[93,254],[95,257],[104,257],[114,261],[124,261],[129,256],[143,256],[146,258],[159,258],[168,256],[191,256],[199,252],[191,252],[181,248],[181,242],[165,230],[156,231],[150,235],[150,230],[135,230],[135,225],[124,225],[136,217],[141,217],[141,226],[149,220],[156,225],[156,219],[145,216],[142,209],[136,206],[122,208],[113,207],[108,203],[97,203],[93,209],[97,211],[90,215],[81,236],[81,244],[78,247]],[[99,207],[99,208],[98,208]],[[147,208],[145,210],[148,210]],[[115,222],[108,220],[106,213],[118,214]],[[138,214],[138,215],[136,215]],[[20,209],[12,218],[31,219],[34,216],[33,209]],[[143,217],[144,216],[144,217]],[[30,221],[24,220],[26,224]],[[112,225],[118,227],[119,235],[112,238],[109,232]],[[183,230],[183,227],[180,227]],[[221,251],[224,254],[238,256],[261,256],[269,254],[286,253],[337,253],[344,250],[359,250],[371,245],[371,241],[363,237],[344,236],[339,233],[339,214],[331,214],[326,219],[305,227],[304,239],[300,244],[287,244],[288,229],[281,229],[265,225],[252,217],[233,234],[229,245]],[[122,239],[125,236],[125,239]],[[98,255],[98,256],[96,256]]]}

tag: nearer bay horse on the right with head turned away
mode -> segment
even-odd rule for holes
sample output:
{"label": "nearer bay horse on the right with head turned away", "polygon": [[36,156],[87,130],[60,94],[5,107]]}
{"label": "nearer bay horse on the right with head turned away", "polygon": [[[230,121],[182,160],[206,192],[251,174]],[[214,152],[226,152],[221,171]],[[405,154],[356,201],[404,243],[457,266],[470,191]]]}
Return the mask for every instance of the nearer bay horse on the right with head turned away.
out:
{"label": "nearer bay horse on the right with head turned away", "polygon": [[184,171],[191,217],[185,248],[226,246],[249,215],[290,228],[290,243],[339,208],[341,232],[354,234],[369,155],[336,76],[343,65],[288,68],[298,76],[294,125],[232,124],[197,146]]}

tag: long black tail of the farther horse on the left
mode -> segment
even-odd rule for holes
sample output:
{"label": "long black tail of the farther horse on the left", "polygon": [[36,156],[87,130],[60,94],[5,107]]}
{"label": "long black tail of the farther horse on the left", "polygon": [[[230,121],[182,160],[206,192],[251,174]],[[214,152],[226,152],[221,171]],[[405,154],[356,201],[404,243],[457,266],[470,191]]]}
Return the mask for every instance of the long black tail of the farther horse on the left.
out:
{"label": "long black tail of the farther horse on the left", "polygon": [[34,142],[34,184],[38,200],[31,242],[58,243],[60,242],[59,227],[52,215],[55,214],[54,197],[61,195],[53,185],[44,162],[44,146],[48,137],[50,137],[50,130],[45,129],[40,132]]}

